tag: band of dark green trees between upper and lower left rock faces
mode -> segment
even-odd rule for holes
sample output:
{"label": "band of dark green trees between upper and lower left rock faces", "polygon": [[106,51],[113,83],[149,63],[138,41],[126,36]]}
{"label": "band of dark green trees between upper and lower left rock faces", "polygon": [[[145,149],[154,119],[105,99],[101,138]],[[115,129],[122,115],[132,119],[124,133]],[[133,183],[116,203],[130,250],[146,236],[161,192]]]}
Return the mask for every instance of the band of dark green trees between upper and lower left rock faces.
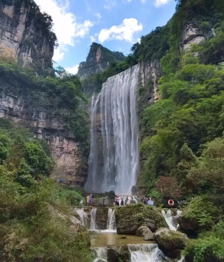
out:
{"label": "band of dark green trees between upper and lower left rock faces", "polygon": [[0,91],[7,87],[7,92],[28,100],[31,108],[46,109],[63,120],[65,129],[80,142],[87,156],[89,113],[84,110],[87,99],[81,91],[80,80],[61,67],[56,73],[57,76],[39,76],[31,68],[21,68],[13,60],[0,57]]}

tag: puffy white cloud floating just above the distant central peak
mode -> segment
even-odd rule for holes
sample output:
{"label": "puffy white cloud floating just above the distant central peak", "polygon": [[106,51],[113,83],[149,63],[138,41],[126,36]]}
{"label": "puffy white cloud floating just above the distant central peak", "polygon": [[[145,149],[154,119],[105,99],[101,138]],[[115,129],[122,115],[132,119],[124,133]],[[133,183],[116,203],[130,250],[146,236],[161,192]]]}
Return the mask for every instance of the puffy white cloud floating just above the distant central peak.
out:
{"label": "puffy white cloud floating just above the distant central peak", "polygon": [[133,43],[135,32],[142,31],[142,24],[138,24],[135,18],[125,18],[119,26],[112,26],[109,29],[101,29],[98,40],[103,43],[106,40],[118,39]]}

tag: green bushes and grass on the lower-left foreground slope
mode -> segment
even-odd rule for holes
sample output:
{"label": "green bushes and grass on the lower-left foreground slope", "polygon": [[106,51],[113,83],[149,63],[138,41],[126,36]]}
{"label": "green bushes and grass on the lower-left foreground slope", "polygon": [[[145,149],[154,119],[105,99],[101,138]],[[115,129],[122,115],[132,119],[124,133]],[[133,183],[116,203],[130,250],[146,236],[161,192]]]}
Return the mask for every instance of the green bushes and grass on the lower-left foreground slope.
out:
{"label": "green bushes and grass on the lower-left foreground slope", "polygon": [[70,211],[81,196],[47,177],[54,161],[43,141],[0,120],[0,260],[91,261],[88,234]]}

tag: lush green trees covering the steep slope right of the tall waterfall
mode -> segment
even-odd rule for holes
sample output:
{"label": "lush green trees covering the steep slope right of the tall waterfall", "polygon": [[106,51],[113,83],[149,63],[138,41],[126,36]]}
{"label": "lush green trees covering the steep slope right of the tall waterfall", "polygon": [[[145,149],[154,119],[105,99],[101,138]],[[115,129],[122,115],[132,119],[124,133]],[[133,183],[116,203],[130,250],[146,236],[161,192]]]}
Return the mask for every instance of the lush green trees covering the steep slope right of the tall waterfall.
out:
{"label": "lush green trees covering the steep slope right of the tall waterfall", "polygon": [[[140,116],[140,137],[144,138],[140,145],[144,159],[140,186],[157,203],[169,197],[187,199],[183,216],[196,221],[201,229],[211,230],[187,245],[185,254],[192,254],[195,262],[224,259],[223,236],[217,233],[217,228],[223,230],[224,219],[223,11],[220,0],[179,0],[166,25],[169,29],[163,27],[168,40],[164,44],[161,41],[160,50],[169,44],[164,55],[160,57],[162,53],[152,45],[152,36],[148,43],[145,37],[134,46],[138,61],[146,56],[161,58],[163,70],[161,99]],[[214,34],[181,50],[187,22],[194,23],[198,31],[213,30]]]}

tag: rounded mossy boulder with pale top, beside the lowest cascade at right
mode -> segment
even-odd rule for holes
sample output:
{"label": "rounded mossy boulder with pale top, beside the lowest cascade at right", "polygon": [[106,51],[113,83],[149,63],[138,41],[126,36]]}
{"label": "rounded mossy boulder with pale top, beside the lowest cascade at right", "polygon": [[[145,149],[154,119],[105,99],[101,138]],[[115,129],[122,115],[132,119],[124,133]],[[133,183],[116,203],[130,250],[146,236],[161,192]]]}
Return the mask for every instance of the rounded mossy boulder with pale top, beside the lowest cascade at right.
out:
{"label": "rounded mossy boulder with pale top, beside the lowest cascade at right", "polygon": [[184,249],[189,241],[187,235],[168,228],[158,229],[155,233],[155,239],[159,248],[172,258],[179,257],[180,251],[178,250]]}

